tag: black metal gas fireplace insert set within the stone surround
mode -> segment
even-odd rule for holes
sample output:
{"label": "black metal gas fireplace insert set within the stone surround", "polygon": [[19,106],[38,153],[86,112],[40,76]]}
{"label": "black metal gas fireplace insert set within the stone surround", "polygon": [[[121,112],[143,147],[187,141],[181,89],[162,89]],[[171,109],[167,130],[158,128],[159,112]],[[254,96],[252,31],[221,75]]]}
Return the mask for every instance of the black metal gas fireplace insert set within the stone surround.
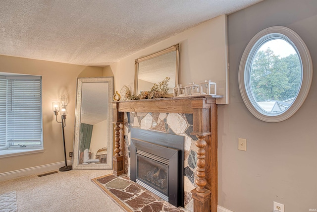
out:
{"label": "black metal gas fireplace insert set within the stone surround", "polygon": [[183,207],[184,137],[132,128],[130,150],[130,179]]}

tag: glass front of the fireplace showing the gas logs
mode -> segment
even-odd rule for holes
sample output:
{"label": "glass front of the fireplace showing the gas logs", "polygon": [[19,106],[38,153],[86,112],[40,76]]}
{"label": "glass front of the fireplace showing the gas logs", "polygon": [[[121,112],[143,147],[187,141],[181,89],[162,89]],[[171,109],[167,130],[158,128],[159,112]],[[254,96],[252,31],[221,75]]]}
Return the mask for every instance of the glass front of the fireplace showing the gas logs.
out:
{"label": "glass front of the fireplace showing the gas logs", "polygon": [[137,154],[136,171],[137,179],[168,196],[168,164]]}

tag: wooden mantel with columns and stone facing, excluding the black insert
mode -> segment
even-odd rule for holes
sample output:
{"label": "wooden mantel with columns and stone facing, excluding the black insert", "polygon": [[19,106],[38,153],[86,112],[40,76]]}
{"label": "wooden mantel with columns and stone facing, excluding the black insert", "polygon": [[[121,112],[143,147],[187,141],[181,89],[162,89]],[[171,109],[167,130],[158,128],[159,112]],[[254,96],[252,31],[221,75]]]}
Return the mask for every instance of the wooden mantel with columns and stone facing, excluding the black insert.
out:
{"label": "wooden mantel with columns and stone facing, excluding the black insert", "polygon": [[[222,96],[202,95],[113,102],[113,174],[118,176],[125,173],[131,177],[131,129],[183,136],[184,208],[194,212],[216,212],[216,98]],[[152,170],[153,173],[158,172],[158,169],[159,167],[156,167],[156,170]],[[147,173],[149,171],[151,175],[151,170]],[[148,179],[151,181],[151,177]]]}

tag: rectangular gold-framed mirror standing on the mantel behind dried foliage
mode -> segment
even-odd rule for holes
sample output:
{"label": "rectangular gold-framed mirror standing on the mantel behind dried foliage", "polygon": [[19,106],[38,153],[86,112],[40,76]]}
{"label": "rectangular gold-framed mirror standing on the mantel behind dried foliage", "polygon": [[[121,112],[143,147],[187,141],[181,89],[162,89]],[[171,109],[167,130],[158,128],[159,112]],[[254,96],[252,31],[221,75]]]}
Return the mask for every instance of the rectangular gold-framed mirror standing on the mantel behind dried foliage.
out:
{"label": "rectangular gold-framed mirror standing on the mantel behind dried foliage", "polygon": [[179,44],[135,60],[134,95],[151,90],[154,83],[169,77],[168,95],[178,84]]}

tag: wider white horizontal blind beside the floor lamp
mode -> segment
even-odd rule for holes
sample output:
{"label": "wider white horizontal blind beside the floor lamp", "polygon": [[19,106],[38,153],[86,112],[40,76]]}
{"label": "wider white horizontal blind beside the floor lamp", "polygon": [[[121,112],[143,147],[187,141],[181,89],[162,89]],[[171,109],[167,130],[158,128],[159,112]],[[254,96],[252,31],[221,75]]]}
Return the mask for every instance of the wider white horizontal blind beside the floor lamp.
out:
{"label": "wider white horizontal blind beside the floor lamp", "polygon": [[7,141],[42,142],[41,79],[7,83]]}

